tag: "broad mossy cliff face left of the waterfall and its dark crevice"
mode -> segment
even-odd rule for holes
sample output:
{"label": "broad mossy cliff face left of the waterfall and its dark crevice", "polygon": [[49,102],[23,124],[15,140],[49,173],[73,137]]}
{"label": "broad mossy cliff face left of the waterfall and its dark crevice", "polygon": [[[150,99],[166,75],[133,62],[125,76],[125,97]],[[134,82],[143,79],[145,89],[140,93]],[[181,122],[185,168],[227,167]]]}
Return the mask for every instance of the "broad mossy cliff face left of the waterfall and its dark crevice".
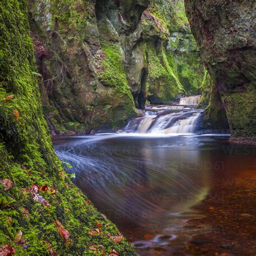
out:
{"label": "broad mossy cliff face left of the waterfall and its dark crevice", "polygon": [[[147,1],[29,1],[43,105],[58,132],[119,127],[145,104]],[[139,100],[138,100],[139,99]]]}

